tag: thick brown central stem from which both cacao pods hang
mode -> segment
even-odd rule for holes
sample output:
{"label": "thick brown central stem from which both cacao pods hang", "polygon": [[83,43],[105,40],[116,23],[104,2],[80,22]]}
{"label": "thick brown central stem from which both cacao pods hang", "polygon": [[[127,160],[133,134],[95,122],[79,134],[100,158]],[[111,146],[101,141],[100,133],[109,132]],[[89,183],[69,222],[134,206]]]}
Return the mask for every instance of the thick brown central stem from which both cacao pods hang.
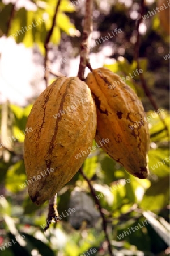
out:
{"label": "thick brown central stem from which both cacao pods hang", "polygon": [[80,64],[77,75],[80,80],[84,80],[84,71],[88,60],[89,44],[92,32],[92,9],[93,1],[86,0],[86,11],[84,16],[82,43],[80,45]]}

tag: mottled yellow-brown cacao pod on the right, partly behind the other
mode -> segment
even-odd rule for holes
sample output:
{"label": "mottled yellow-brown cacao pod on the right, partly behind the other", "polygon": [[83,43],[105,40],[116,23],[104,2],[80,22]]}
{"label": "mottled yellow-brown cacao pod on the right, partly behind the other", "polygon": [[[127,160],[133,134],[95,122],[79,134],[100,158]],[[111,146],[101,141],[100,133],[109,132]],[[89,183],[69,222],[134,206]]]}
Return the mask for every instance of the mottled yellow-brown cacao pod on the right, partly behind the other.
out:
{"label": "mottled yellow-brown cacao pod on the right, partly behind the other", "polygon": [[[108,138],[109,142],[101,146],[103,150],[130,174],[145,179],[149,133],[141,101],[120,76],[107,68],[90,72],[86,83],[97,108],[96,141]],[[137,122],[141,122],[139,126]]]}

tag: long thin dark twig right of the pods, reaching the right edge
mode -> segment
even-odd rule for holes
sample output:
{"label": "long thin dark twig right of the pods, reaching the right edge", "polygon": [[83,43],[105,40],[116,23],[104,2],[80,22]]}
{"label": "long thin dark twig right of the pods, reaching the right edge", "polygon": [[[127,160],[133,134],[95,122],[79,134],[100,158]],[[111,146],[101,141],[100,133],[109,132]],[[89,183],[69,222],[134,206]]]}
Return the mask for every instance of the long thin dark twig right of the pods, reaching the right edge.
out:
{"label": "long thin dark twig right of the pods, reaching the right edge", "polygon": [[[140,65],[140,61],[139,61],[139,49],[140,49],[140,39],[141,39],[141,35],[139,33],[139,26],[142,22],[142,16],[144,14],[145,14],[145,0],[141,0],[141,10],[139,11],[139,19],[137,20],[137,25],[136,25],[137,40],[136,40],[135,45],[134,45],[134,60],[137,61],[137,68],[138,69],[141,69],[141,65]],[[156,104],[156,101],[152,97],[152,94],[150,92],[150,89],[147,86],[147,83],[146,83],[145,77],[143,76],[143,73],[139,72],[139,78],[141,80],[141,85],[142,85],[142,88],[143,88],[146,96],[150,100],[151,105],[153,106],[154,110],[157,112],[158,109],[159,109],[159,106]],[[167,134],[168,134],[168,137],[169,137],[169,129],[168,129],[167,124],[165,123],[165,120],[162,116],[162,113],[160,113],[159,117],[160,117],[160,120],[163,122],[165,130],[167,131]]]}

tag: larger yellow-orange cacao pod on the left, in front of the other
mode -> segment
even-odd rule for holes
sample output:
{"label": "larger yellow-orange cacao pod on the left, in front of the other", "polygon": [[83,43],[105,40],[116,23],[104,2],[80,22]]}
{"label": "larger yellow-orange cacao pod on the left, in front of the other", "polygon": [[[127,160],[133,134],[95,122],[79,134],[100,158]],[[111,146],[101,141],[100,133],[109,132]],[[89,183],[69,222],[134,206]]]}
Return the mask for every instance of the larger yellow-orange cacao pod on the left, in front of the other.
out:
{"label": "larger yellow-orange cacao pod on the left, in front of the other", "polygon": [[42,204],[79,170],[88,155],[75,158],[92,146],[96,107],[90,89],[78,77],[59,77],[40,94],[29,114],[24,162],[28,193]]}

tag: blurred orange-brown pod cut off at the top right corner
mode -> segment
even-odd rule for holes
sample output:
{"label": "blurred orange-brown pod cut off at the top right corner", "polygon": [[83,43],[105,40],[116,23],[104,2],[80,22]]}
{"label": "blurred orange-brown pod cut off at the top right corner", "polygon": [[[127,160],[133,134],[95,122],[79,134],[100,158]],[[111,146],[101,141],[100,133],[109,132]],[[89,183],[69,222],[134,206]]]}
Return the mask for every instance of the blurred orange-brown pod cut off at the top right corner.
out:
{"label": "blurred orange-brown pod cut off at the top right corner", "polygon": [[169,3],[165,0],[158,0],[157,7],[159,8],[158,16],[160,19],[160,25],[163,27],[163,30],[167,35],[170,34],[170,13],[169,13]]}

